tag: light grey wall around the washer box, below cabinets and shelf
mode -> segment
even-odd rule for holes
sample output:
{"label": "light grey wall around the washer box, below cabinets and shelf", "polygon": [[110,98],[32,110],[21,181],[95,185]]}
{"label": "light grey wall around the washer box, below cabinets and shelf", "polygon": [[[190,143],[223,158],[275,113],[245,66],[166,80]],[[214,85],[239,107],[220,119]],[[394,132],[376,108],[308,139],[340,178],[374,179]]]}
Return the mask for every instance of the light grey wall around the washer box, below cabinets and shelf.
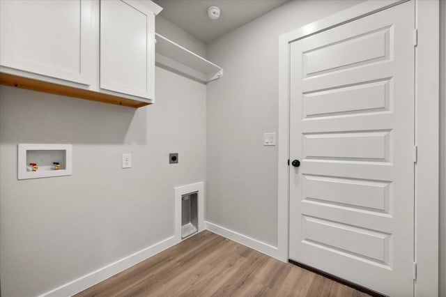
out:
{"label": "light grey wall around the washer box, below cabinets and shelf", "polygon": [[[205,137],[206,86],[161,68],[140,109],[0,86],[2,296],[43,294],[174,235],[174,187],[205,181]],[[19,143],[72,144],[72,176],[18,181]]]}

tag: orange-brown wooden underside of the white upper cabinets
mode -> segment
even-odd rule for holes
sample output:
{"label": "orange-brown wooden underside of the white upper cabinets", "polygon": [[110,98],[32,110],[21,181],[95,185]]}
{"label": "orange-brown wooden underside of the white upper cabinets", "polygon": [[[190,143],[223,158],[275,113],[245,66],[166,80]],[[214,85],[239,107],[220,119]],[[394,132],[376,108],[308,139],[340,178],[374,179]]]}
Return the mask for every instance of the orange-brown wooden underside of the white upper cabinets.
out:
{"label": "orange-brown wooden underside of the white upper cabinets", "polygon": [[149,102],[132,100],[84,89],[77,89],[72,86],[64,86],[63,84],[44,82],[42,80],[32,79],[29,77],[21,77],[18,75],[11,75],[8,73],[0,73],[0,84],[3,84],[4,86],[15,86],[21,89],[52,93],[73,98],[81,98],[85,100],[104,102],[114,105],[122,105],[126,107],[139,108],[151,104]]}

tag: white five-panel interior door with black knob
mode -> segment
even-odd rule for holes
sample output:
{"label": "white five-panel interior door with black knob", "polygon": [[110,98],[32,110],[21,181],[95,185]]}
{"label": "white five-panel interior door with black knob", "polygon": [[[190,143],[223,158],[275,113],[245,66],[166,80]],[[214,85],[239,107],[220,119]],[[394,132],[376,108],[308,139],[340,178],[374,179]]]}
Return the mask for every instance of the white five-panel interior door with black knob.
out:
{"label": "white five-panel interior door with black knob", "polygon": [[290,45],[289,257],[413,296],[414,3]]}

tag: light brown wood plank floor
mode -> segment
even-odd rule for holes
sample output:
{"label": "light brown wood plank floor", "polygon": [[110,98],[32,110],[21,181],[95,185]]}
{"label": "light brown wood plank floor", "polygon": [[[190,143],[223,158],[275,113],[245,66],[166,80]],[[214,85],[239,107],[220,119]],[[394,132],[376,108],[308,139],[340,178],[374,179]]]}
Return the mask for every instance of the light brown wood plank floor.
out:
{"label": "light brown wood plank floor", "polygon": [[369,296],[203,231],[76,296]]}

